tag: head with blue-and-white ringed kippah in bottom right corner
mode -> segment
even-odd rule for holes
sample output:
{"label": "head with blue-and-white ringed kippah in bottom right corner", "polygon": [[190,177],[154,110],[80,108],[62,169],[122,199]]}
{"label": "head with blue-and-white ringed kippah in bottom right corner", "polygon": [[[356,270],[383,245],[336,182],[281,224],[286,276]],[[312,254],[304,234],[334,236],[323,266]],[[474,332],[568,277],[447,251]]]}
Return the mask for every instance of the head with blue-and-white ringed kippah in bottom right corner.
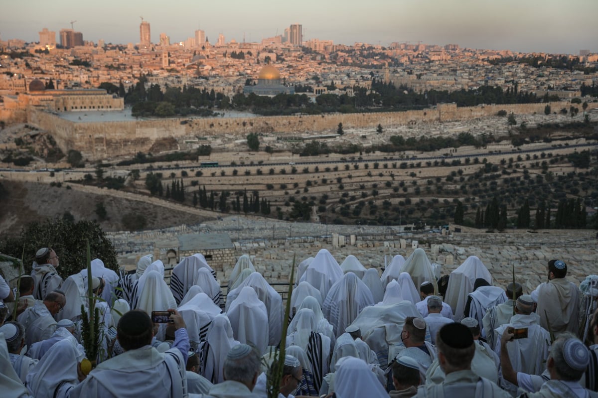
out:
{"label": "head with blue-and-white ringed kippah in bottom right corner", "polygon": [[590,352],[572,333],[559,336],[550,347],[546,367],[552,379],[578,381],[590,362]]}

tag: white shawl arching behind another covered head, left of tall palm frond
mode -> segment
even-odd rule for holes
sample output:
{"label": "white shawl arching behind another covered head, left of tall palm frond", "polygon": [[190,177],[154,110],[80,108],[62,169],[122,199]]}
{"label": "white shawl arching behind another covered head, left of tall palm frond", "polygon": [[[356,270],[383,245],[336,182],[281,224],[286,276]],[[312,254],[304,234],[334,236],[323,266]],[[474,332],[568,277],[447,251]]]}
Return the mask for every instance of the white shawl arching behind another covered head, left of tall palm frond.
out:
{"label": "white shawl arching behind another covered head, left of tall palm frond", "polygon": [[266,305],[266,310],[268,311],[269,344],[277,345],[280,342],[280,334],[282,333],[282,298],[260,273],[252,273],[239,287],[228,293],[227,307],[230,307],[230,304],[234,302],[234,299],[237,298],[245,286],[252,287],[258,295],[258,299]]}

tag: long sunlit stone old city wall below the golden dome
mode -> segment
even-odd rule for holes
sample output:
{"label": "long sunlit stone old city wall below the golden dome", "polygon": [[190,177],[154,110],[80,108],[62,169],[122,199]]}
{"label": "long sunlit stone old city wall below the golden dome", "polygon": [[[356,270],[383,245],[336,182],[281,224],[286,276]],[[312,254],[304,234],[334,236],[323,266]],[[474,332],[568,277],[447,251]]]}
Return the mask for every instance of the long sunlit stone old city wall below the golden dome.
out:
{"label": "long sunlit stone old city wall below the golden dome", "polygon": [[[344,128],[375,128],[417,124],[432,121],[471,120],[496,115],[498,111],[533,114],[544,112],[544,103],[522,105],[484,105],[457,108],[455,104],[441,104],[421,111],[367,114],[299,115],[252,118],[171,118],[102,123],[75,123],[57,115],[29,109],[28,122],[50,131],[63,152],[77,149],[88,157],[100,160],[107,157],[148,152],[157,139],[210,139],[228,136],[243,139],[248,133],[305,136],[309,133],[334,132],[338,123]],[[569,109],[569,102],[550,103],[553,111]],[[578,108],[581,106],[578,105]],[[588,103],[588,109],[598,103]]]}

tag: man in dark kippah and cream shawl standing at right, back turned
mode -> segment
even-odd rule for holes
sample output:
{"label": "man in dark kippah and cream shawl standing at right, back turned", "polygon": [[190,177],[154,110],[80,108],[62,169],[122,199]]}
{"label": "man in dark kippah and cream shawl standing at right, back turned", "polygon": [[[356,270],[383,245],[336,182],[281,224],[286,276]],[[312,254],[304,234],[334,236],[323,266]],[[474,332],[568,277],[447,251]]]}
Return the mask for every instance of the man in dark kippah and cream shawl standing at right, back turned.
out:
{"label": "man in dark kippah and cream shawl standing at right, back turned", "polygon": [[538,303],[536,313],[540,324],[550,329],[554,335],[563,332],[578,333],[579,330],[579,289],[566,279],[567,265],[562,260],[548,261],[548,283],[540,284],[532,293]]}

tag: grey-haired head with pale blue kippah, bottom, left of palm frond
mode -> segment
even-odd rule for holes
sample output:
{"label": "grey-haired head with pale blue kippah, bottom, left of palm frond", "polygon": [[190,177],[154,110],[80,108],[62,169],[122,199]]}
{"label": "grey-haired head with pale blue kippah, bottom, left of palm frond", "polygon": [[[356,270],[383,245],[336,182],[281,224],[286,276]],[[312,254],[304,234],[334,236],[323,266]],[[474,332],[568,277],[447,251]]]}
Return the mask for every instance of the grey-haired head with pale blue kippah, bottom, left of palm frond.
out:
{"label": "grey-haired head with pale blue kippah, bottom, left of palm frond", "polygon": [[238,381],[253,391],[260,374],[260,366],[257,351],[251,345],[238,344],[228,351],[222,371],[225,380]]}

